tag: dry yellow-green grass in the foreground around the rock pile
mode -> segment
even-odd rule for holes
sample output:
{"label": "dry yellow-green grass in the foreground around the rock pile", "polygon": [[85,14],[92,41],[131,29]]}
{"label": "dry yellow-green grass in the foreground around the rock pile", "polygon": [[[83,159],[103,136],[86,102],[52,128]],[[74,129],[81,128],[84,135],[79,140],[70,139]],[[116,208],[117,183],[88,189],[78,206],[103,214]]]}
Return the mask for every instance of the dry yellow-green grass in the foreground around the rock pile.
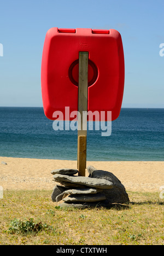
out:
{"label": "dry yellow-green grass in the foreground around the rock pile", "polygon": [[159,193],[127,191],[127,207],[87,210],[60,208],[51,193],[4,191],[0,245],[164,245]]}

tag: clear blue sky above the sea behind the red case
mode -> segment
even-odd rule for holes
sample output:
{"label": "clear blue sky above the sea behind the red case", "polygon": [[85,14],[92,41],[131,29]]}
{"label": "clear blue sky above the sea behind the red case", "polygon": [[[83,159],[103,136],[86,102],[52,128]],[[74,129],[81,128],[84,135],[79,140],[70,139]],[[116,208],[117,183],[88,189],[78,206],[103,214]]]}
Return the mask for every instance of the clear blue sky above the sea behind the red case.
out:
{"label": "clear blue sky above the sea behind the red case", "polygon": [[163,0],[1,1],[0,106],[42,107],[45,34],[51,27],[79,27],[114,28],[121,33],[125,54],[122,107],[164,108],[164,56],[159,54],[163,24]]}

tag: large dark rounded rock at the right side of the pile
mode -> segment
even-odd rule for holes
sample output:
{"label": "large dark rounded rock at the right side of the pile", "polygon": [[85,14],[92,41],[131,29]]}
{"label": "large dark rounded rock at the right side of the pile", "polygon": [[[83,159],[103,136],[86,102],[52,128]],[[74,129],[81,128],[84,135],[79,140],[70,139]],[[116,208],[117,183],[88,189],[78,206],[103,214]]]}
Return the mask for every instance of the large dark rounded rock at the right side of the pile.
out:
{"label": "large dark rounded rock at the right side of the pile", "polygon": [[119,179],[114,176],[113,173],[96,170],[94,167],[90,166],[91,178],[106,179],[113,183],[112,189],[103,190],[109,203],[127,203],[129,202],[128,194],[126,193],[124,185],[119,181]]}

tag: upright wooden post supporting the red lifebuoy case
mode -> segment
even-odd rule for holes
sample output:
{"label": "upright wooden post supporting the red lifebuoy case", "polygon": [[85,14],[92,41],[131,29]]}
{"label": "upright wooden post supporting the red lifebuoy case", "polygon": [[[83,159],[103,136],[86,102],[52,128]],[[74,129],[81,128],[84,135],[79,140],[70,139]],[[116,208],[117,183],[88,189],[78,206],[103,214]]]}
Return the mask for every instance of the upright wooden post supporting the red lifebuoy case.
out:
{"label": "upright wooden post supporting the red lifebuoy case", "polygon": [[85,176],[86,168],[86,136],[87,136],[87,74],[88,52],[79,52],[79,93],[78,93],[78,171],[79,176]]}

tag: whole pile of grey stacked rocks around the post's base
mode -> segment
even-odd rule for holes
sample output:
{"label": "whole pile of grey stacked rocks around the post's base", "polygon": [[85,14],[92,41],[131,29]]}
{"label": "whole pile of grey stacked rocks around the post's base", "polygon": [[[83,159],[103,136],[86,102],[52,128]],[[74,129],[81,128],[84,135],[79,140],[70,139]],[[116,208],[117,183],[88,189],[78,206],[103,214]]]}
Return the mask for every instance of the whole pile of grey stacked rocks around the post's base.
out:
{"label": "whole pile of grey stacked rocks around the post's base", "polygon": [[78,170],[58,169],[52,171],[55,186],[52,201],[61,207],[110,207],[112,203],[127,203],[128,195],[114,174],[87,167],[89,177],[75,174]]}

